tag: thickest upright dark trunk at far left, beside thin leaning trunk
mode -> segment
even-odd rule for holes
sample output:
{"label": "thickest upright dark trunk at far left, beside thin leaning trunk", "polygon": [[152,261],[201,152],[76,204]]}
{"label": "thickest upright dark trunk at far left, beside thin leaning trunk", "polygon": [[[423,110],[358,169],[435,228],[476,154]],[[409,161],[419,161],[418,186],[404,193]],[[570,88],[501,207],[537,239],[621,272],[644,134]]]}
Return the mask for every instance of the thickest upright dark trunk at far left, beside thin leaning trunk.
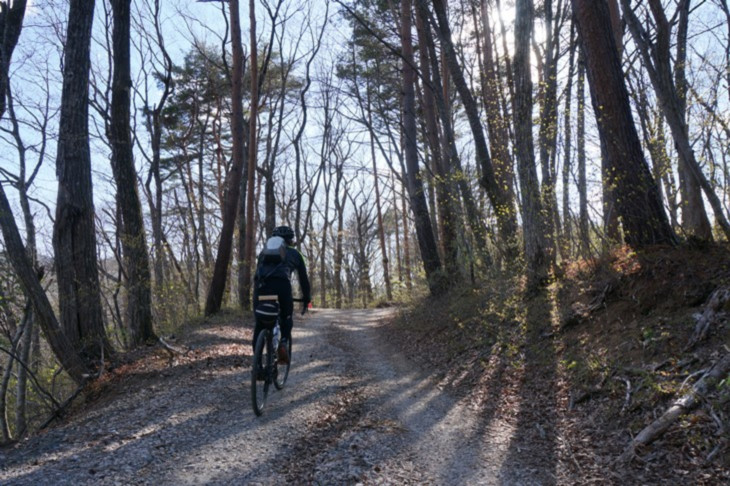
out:
{"label": "thickest upright dark trunk at far left, beside thin leaning trunk", "polygon": [[93,0],[71,0],[56,155],[53,227],[58,302],[64,331],[89,364],[112,348],[104,330],[96,258],[89,152],[89,67]]}

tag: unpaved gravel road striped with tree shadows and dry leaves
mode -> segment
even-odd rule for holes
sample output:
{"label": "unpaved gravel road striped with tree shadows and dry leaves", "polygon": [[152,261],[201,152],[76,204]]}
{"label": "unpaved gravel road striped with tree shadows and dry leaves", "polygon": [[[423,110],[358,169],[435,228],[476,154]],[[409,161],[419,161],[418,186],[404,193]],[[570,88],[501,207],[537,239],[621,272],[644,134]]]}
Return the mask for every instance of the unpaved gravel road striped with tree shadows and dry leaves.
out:
{"label": "unpaved gravel road striped with tree shadows and dry leaves", "polygon": [[0,484],[554,483],[506,460],[513,427],[480,420],[393,352],[382,325],[392,312],[298,318],[289,381],[258,418],[250,330],[205,326],[186,340],[200,359],[143,373],[123,395],[0,450]]}

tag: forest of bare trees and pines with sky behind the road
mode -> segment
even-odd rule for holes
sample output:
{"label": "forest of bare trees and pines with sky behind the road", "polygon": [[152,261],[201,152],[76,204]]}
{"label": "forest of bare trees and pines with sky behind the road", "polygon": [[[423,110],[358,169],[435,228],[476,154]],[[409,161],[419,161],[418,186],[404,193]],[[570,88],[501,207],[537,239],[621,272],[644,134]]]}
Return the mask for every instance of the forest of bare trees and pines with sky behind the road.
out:
{"label": "forest of bare trees and pines with sky behind the road", "polygon": [[250,311],[279,225],[322,309],[699,249],[692,378],[730,384],[726,0],[0,0],[0,43],[0,443]]}

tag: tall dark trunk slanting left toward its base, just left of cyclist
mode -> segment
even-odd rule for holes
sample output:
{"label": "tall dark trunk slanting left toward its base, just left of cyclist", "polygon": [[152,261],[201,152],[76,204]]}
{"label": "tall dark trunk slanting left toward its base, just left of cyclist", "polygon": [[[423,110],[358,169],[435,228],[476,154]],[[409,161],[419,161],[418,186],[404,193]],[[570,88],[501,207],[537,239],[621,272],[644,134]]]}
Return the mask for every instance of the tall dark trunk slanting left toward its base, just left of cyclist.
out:
{"label": "tall dark trunk slanting left toward its base, just left of cyclist", "polygon": [[[238,211],[240,199],[241,178],[244,162],[242,102],[243,46],[241,44],[241,18],[238,0],[230,0],[228,8],[231,21],[231,43],[233,46],[233,72],[231,73],[231,132],[233,160],[231,161],[231,170],[226,177],[223,225],[221,228],[220,240],[218,242],[218,254],[216,255],[215,267],[213,268],[213,278],[210,281],[208,297],[205,302],[205,315],[207,316],[217,313],[220,310],[221,303],[223,301],[223,293],[225,292],[226,279],[228,276],[228,265],[231,261],[233,230],[236,224],[236,213]],[[254,26],[251,28],[252,30],[255,29]],[[252,51],[255,51],[255,48],[253,48]],[[254,63],[252,62],[252,65],[253,64]],[[256,86],[258,86],[258,84],[256,84]],[[252,101],[252,103],[254,102]],[[255,118],[253,114],[251,116],[252,118]],[[253,130],[254,135],[251,135],[252,137],[256,136],[255,132],[256,131]],[[250,170],[250,166],[251,161],[249,161],[249,179],[253,177],[253,171]],[[253,183],[250,180],[248,190],[251,192],[251,194],[249,194],[250,201],[253,193]],[[251,224],[251,220],[247,219],[247,231],[249,231],[249,226],[253,225]],[[250,260],[244,258],[244,265],[248,262],[250,262]],[[250,280],[250,278],[245,279],[243,283],[245,284],[248,280]],[[242,303],[242,305],[245,307],[245,302]]]}

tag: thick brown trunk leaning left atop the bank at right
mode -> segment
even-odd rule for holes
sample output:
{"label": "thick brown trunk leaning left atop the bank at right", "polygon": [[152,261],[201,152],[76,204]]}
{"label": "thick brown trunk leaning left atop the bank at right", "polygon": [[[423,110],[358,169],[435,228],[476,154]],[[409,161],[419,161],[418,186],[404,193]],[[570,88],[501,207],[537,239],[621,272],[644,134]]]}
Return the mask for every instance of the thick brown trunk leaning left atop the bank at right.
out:
{"label": "thick brown trunk leaning left atop the bank at right", "polygon": [[606,145],[608,182],[626,243],[634,248],[674,244],[659,191],[644,160],[631,115],[616,41],[605,2],[572,0],[585,53],[591,99]]}

